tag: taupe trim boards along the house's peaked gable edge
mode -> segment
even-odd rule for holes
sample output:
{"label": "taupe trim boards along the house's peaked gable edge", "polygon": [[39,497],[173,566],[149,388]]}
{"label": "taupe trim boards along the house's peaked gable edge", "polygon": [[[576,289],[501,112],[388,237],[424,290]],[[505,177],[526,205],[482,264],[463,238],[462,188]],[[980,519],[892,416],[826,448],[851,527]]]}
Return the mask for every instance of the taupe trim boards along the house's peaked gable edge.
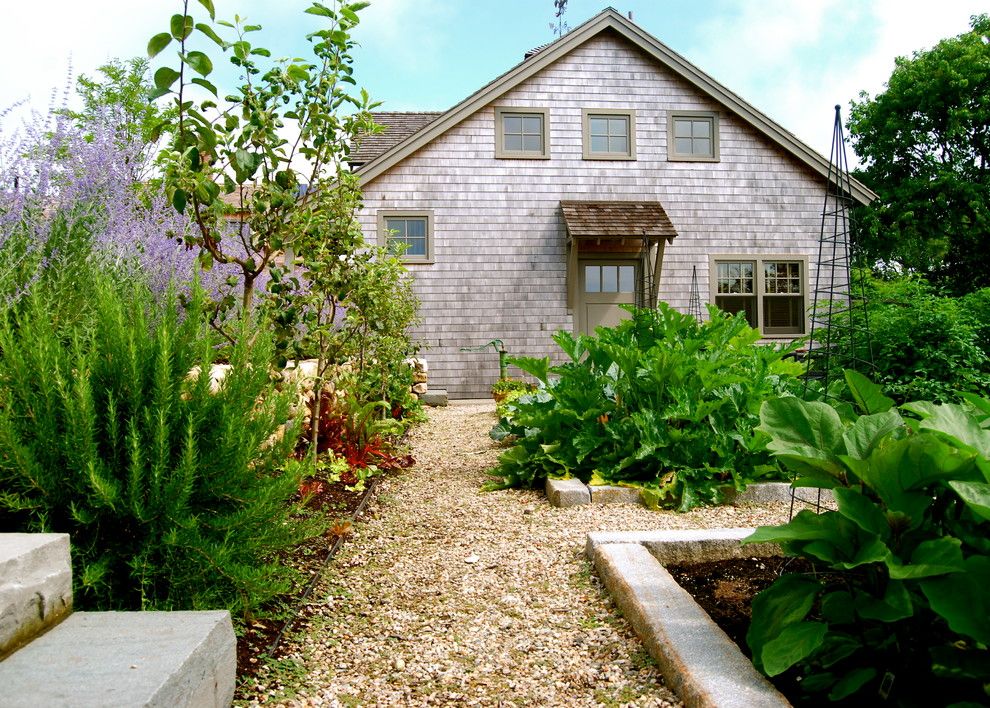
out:
{"label": "taupe trim boards along the house's peaked gable edge", "polygon": [[[373,180],[502,94],[512,90],[576,47],[606,30],[612,30],[618,33],[621,37],[639,47],[671,72],[749,123],[753,128],[776,143],[799,162],[804,163],[822,177],[828,178],[828,160],[826,158],[798,140],[792,133],[779,126],[756,108],[746,103],[735,93],[715,81],[715,79],[708,76],[701,69],[691,64],[680,54],[667,47],[656,37],[640,29],[612,8],[608,8],[595,17],[592,17],[580,27],[575,28],[560,39],[552,42],[546,48],[537,48],[538,51],[535,54],[531,54],[522,63],[517,64],[494,81],[468,96],[429,125],[418,132],[411,133],[401,142],[393,144],[387,150],[369,160],[357,170],[357,174],[361,178],[361,183],[366,184]],[[851,186],[852,196],[862,204],[868,204],[877,198],[875,192],[858,180],[853,179]]]}

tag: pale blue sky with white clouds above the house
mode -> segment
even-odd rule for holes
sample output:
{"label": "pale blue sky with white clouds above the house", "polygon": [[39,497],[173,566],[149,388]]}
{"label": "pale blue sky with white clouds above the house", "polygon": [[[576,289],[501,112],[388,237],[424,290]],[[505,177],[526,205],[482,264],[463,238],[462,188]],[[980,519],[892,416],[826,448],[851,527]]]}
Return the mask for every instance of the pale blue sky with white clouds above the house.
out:
{"label": "pale blue sky with white clouds above the house", "polygon": [[[218,19],[261,24],[255,43],[275,56],[301,54],[317,28],[303,13],[309,0],[214,4]],[[570,0],[564,20],[576,27],[610,4],[826,156],[836,104],[846,115],[861,91],[883,90],[895,57],[965,32],[971,15],[988,11],[986,0]],[[44,111],[70,68],[92,75],[110,58],[143,55],[181,0],[0,6],[0,111],[21,100]],[[554,39],[553,14],[553,0],[372,0],[355,32],[355,77],[381,110],[443,110]],[[235,85],[234,73],[218,78]]]}

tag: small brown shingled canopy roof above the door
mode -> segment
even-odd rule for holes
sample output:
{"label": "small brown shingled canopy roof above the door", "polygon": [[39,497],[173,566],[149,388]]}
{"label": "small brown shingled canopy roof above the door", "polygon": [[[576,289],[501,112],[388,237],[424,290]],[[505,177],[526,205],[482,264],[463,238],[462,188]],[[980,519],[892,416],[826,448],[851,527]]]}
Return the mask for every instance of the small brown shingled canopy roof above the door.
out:
{"label": "small brown shingled canopy roof above the door", "polygon": [[651,241],[677,236],[660,202],[561,201],[564,223],[572,238],[629,238]]}

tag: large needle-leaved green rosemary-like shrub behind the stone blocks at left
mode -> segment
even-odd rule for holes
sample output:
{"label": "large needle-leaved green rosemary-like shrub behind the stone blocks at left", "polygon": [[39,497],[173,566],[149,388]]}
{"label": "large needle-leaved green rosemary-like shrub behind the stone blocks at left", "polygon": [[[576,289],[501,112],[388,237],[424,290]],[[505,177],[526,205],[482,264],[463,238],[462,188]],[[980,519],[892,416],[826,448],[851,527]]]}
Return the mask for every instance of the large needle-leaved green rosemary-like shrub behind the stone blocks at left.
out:
{"label": "large needle-leaved green rosemary-like shrub behind the stone blocks at left", "polygon": [[71,534],[81,608],[249,615],[293,577],[275,554],[316,531],[290,522],[295,434],[273,443],[288,401],[266,328],[229,349],[211,393],[201,296],[182,318],[172,292],[86,276],[75,320],[52,318],[46,288],[0,319],[0,525]]}

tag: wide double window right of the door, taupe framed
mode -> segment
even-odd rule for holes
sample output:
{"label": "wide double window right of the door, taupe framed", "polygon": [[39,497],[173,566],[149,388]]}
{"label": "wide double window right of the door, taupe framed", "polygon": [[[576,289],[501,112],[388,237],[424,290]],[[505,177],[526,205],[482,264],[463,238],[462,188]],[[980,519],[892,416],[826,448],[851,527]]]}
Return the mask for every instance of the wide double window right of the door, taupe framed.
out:
{"label": "wide double window right of the door, taupe framed", "polygon": [[715,305],[745,313],[766,335],[804,334],[804,261],[753,259],[715,261]]}

